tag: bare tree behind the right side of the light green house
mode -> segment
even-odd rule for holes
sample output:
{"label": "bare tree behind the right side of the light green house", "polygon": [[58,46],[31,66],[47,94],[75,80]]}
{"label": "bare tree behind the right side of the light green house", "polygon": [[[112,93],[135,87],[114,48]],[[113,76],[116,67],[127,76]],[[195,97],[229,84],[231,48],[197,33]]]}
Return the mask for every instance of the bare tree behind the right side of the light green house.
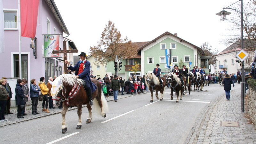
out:
{"label": "bare tree behind the right side of the light green house", "polygon": [[217,60],[216,56],[219,53],[219,50],[216,48],[212,50],[212,45],[209,46],[209,44],[206,42],[201,45],[201,48],[205,53],[203,56],[212,56],[212,58],[209,60],[209,64],[214,65],[215,61]]}

